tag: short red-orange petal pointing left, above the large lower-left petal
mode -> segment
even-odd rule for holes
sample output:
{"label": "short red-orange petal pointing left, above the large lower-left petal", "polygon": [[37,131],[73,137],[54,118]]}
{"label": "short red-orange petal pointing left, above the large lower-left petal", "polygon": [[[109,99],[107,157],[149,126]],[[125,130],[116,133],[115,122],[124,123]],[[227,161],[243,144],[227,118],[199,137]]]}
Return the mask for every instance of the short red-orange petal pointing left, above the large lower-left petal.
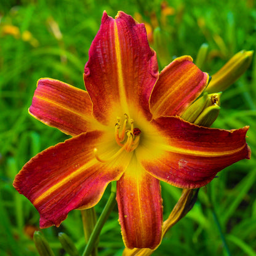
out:
{"label": "short red-orange petal pointing left, above the large lower-left petal", "polygon": [[88,93],[55,79],[38,81],[30,114],[73,136],[95,130],[92,128],[92,102]]}

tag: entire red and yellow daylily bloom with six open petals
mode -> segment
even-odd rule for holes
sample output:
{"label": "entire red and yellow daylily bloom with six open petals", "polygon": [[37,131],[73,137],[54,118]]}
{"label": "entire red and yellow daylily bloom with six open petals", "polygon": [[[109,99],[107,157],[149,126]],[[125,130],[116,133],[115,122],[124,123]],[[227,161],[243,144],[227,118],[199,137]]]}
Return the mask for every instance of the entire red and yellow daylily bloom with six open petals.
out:
{"label": "entire red and yellow daylily bloom with six open petals", "polygon": [[30,113],[73,138],[28,161],[14,186],[34,204],[41,228],[68,212],[95,206],[117,180],[126,247],[156,248],[162,238],[159,180],[180,188],[209,183],[250,157],[248,127],[219,130],[179,116],[199,97],[208,75],[183,56],[158,73],[145,26],[124,12],[104,12],[84,68],[86,90],[38,81]]}

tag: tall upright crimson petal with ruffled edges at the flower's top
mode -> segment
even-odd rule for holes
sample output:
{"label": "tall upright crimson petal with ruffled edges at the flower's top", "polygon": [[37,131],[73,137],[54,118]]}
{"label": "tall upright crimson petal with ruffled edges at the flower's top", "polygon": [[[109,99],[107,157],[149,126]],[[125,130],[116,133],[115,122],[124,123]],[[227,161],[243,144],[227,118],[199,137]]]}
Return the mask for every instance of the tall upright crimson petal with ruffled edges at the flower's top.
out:
{"label": "tall upright crimson petal with ruffled edges at the flower's top", "polygon": [[149,98],[157,79],[156,54],[148,46],[145,26],[124,12],[116,19],[104,12],[84,68],[95,118],[110,124],[124,113],[134,119],[144,113],[151,119]]}

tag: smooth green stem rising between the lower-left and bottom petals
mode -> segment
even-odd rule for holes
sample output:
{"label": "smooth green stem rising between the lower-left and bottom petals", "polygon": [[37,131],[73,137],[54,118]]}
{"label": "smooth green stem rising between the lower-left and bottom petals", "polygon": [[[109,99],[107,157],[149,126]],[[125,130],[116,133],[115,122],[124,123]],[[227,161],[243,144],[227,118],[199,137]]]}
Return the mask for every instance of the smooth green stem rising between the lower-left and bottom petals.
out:
{"label": "smooth green stem rising between the lower-left and bottom petals", "polygon": [[102,214],[98,218],[98,221],[94,227],[94,231],[92,231],[92,234],[90,235],[86,249],[84,249],[82,256],[89,256],[91,254],[92,250],[94,249],[95,242],[97,241],[98,236],[100,235],[100,231],[102,230],[103,225],[105,224],[106,220],[108,219],[108,216],[113,210],[115,203],[116,203],[116,182],[112,182],[111,194],[110,194],[110,197],[108,198],[108,202],[106,202],[106,205],[102,211]]}

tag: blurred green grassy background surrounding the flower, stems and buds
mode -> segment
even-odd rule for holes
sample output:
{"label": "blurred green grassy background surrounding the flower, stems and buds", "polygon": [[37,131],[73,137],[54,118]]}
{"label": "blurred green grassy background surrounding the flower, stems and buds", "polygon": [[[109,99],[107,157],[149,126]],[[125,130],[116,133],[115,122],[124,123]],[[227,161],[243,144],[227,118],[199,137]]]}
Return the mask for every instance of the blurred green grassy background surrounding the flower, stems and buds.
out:
{"label": "blurred green grassy background surrounding the flower, stems and buds", "polygon": [[[207,43],[209,52],[201,69],[214,74],[236,52],[256,46],[254,0],[1,0],[0,255],[38,255],[31,235],[39,229],[39,214],[14,190],[12,181],[32,156],[68,136],[32,118],[28,107],[39,78],[84,88],[82,73],[103,10],[112,17],[123,10],[146,23],[159,68],[180,55],[196,59],[201,44]],[[152,38],[153,31],[158,31],[160,39]],[[223,92],[222,110],[214,123],[222,129],[249,125],[252,159],[226,168],[202,188],[194,208],[167,233],[153,255],[256,255],[255,96],[254,56],[249,70]],[[162,183],[164,218],[180,193]],[[109,194],[108,188],[95,207],[97,215]],[[84,250],[78,210],[70,212],[60,228],[42,230],[55,255],[66,255],[57,238],[59,232],[68,234],[79,252]],[[222,236],[230,252],[223,246]],[[99,255],[121,255],[123,249],[115,207],[100,235]]]}

